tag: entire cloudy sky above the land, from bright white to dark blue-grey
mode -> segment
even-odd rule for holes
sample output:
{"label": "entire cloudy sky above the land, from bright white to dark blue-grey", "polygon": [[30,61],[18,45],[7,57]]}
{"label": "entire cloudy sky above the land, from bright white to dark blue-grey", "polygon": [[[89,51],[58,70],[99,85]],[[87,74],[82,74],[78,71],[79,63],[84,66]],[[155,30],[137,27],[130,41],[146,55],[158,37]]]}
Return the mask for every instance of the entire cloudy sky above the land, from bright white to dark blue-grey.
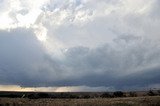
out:
{"label": "entire cloudy sky above the land, from bright white to dark blue-grey", "polygon": [[0,0],[0,90],[160,88],[159,0]]}

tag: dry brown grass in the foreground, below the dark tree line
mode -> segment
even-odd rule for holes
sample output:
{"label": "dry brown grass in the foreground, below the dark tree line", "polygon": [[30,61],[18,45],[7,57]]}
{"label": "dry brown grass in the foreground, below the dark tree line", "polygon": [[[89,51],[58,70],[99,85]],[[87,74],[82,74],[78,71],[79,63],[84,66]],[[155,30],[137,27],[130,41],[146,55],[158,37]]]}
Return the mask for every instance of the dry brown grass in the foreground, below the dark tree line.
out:
{"label": "dry brown grass in the foreground, below the dark tree line", "polygon": [[0,106],[160,106],[160,96],[89,99],[0,98]]}

